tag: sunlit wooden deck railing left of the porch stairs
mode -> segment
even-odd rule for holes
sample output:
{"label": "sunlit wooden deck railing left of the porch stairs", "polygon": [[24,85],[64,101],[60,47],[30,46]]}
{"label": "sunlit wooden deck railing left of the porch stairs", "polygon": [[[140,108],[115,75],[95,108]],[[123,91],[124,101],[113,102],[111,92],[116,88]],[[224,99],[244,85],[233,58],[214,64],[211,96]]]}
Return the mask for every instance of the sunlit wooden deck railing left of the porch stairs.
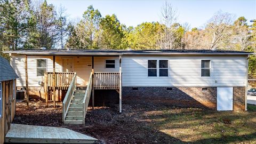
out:
{"label": "sunlit wooden deck railing left of the porch stairs", "polygon": [[[72,81],[76,73],[74,72],[63,72],[63,73],[56,73],[55,72],[55,87],[58,90],[68,90],[68,87]],[[46,72],[44,73],[44,83],[47,86],[47,89],[53,90],[53,72]]]}

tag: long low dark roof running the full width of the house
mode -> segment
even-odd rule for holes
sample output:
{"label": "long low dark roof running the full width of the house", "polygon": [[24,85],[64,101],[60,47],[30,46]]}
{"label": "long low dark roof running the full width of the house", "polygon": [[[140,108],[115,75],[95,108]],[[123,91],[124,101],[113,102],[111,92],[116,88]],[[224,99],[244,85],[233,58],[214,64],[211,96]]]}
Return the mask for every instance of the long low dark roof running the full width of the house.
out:
{"label": "long low dark roof running the full width of the house", "polygon": [[10,54],[26,55],[250,55],[253,53],[244,51],[222,51],[222,50],[18,50],[4,51]]}

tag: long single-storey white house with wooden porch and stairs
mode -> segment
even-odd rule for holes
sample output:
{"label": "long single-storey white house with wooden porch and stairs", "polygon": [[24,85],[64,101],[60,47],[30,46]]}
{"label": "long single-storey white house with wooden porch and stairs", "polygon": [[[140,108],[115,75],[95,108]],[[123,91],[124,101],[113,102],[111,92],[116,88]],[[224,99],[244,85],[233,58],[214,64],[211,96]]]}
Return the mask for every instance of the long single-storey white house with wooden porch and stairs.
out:
{"label": "long single-storey white house with wooden porch and stairs", "polygon": [[[94,93],[118,92],[122,103],[246,110],[249,52],[212,50],[8,51],[17,88],[54,103],[63,122],[83,124]],[[55,105],[55,104],[54,104]]]}

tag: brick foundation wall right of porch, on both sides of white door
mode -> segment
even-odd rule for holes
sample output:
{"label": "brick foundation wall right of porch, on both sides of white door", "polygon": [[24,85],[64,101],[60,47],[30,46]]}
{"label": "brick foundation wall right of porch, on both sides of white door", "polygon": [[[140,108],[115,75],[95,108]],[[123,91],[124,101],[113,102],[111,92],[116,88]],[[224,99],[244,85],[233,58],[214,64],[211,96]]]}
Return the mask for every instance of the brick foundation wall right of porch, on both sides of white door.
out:
{"label": "brick foundation wall right of porch, on both sides of white door", "polygon": [[[138,90],[123,86],[123,103],[151,103],[217,110],[217,87],[140,86],[136,88]],[[244,107],[245,87],[234,87],[234,110],[244,110]]]}

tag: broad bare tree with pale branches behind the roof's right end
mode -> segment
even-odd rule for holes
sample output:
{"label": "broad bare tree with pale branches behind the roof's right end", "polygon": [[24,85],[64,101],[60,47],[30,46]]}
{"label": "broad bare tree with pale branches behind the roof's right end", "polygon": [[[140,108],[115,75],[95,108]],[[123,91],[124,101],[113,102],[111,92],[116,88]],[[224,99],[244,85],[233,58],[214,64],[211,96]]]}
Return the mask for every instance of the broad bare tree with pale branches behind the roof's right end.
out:
{"label": "broad bare tree with pale branches behind the roof's right end", "polygon": [[219,11],[207,22],[206,33],[210,34],[210,48],[215,50],[223,43],[230,41],[230,24],[233,21],[233,15]]}

